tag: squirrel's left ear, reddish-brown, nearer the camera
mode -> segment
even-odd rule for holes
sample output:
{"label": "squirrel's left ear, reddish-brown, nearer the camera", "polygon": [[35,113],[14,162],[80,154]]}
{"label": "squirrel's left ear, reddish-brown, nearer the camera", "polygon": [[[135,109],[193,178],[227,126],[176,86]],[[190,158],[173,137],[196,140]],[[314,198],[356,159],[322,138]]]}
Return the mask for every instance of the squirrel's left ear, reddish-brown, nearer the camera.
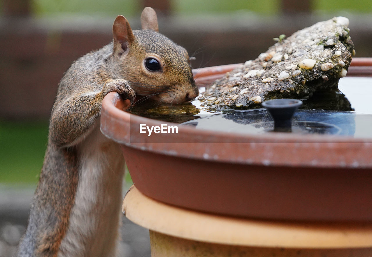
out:
{"label": "squirrel's left ear, reddish-brown, nearer the camera", "polygon": [[134,35],[128,20],[124,16],[118,15],[112,26],[114,37],[114,52],[124,53],[128,51],[129,45],[134,41]]}

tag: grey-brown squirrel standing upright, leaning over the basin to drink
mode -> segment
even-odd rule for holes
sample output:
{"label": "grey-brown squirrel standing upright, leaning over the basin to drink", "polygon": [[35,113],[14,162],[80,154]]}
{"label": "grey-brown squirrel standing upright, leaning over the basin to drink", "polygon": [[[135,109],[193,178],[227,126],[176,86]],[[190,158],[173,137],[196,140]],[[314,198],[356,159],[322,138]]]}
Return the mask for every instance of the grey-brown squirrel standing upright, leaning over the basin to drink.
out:
{"label": "grey-brown squirrel standing upright, leaning over the basin to drink", "polygon": [[49,121],[48,146],[28,226],[15,256],[115,256],[125,161],[100,132],[102,99],[116,91],[170,104],[199,95],[187,51],[158,32],[155,11],[142,30],[124,16],[113,40],[75,61],[62,77]]}

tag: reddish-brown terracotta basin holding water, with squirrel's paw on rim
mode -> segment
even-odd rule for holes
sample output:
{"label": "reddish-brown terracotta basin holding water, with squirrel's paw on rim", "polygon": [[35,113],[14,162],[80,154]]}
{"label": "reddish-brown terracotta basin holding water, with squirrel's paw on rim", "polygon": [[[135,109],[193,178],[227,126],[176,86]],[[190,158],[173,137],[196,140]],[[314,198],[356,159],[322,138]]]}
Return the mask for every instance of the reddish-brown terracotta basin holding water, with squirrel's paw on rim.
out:
{"label": "reddish-brown terracotta basin holding water, with squirrel's paw on rim", "polygon": [[[372,77],[371,66],[371,58],[354,58],[348,75]],[[209,84],[232,68],[199,70],[195,81]],[[198,129],[129,114],[128,107],[109,93],[101,131],[121,144],[136,188],[152,199],[241,218],[372,221],[371,137]],[[143,124],[168,133],[148,136]],[[178,133],[169,132],[176,126]]]}

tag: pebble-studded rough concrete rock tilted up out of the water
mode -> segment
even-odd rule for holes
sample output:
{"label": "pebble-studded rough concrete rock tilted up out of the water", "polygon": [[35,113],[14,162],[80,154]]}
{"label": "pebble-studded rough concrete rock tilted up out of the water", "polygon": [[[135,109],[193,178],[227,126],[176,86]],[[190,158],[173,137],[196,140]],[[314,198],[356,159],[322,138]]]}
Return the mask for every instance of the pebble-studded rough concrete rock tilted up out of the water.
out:
{"label": "pebble-studded rough concrete rock tilted up out of the water", "polygon": [[216,80],[202,105],[210,111],[259,108],[262,101],[306,99],[337,88],[355,53],[348,25],[346,17],[334,17],[295,32]]}

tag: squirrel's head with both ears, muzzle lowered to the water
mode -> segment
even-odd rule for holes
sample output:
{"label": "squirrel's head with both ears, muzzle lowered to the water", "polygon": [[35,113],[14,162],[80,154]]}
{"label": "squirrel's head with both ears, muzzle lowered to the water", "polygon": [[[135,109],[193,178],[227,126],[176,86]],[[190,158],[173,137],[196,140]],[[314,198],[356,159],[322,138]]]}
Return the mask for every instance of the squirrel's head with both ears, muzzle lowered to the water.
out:
{"label": "squirrel's head with both ears, muzzle lowered to the water", "polygon": [[113,25],[115,73],[131,84],[136,94],[177,104],[199,95],[186,49],[158,32],[155,11],[146,7],[142,30],[132,31],[124,16]]}

